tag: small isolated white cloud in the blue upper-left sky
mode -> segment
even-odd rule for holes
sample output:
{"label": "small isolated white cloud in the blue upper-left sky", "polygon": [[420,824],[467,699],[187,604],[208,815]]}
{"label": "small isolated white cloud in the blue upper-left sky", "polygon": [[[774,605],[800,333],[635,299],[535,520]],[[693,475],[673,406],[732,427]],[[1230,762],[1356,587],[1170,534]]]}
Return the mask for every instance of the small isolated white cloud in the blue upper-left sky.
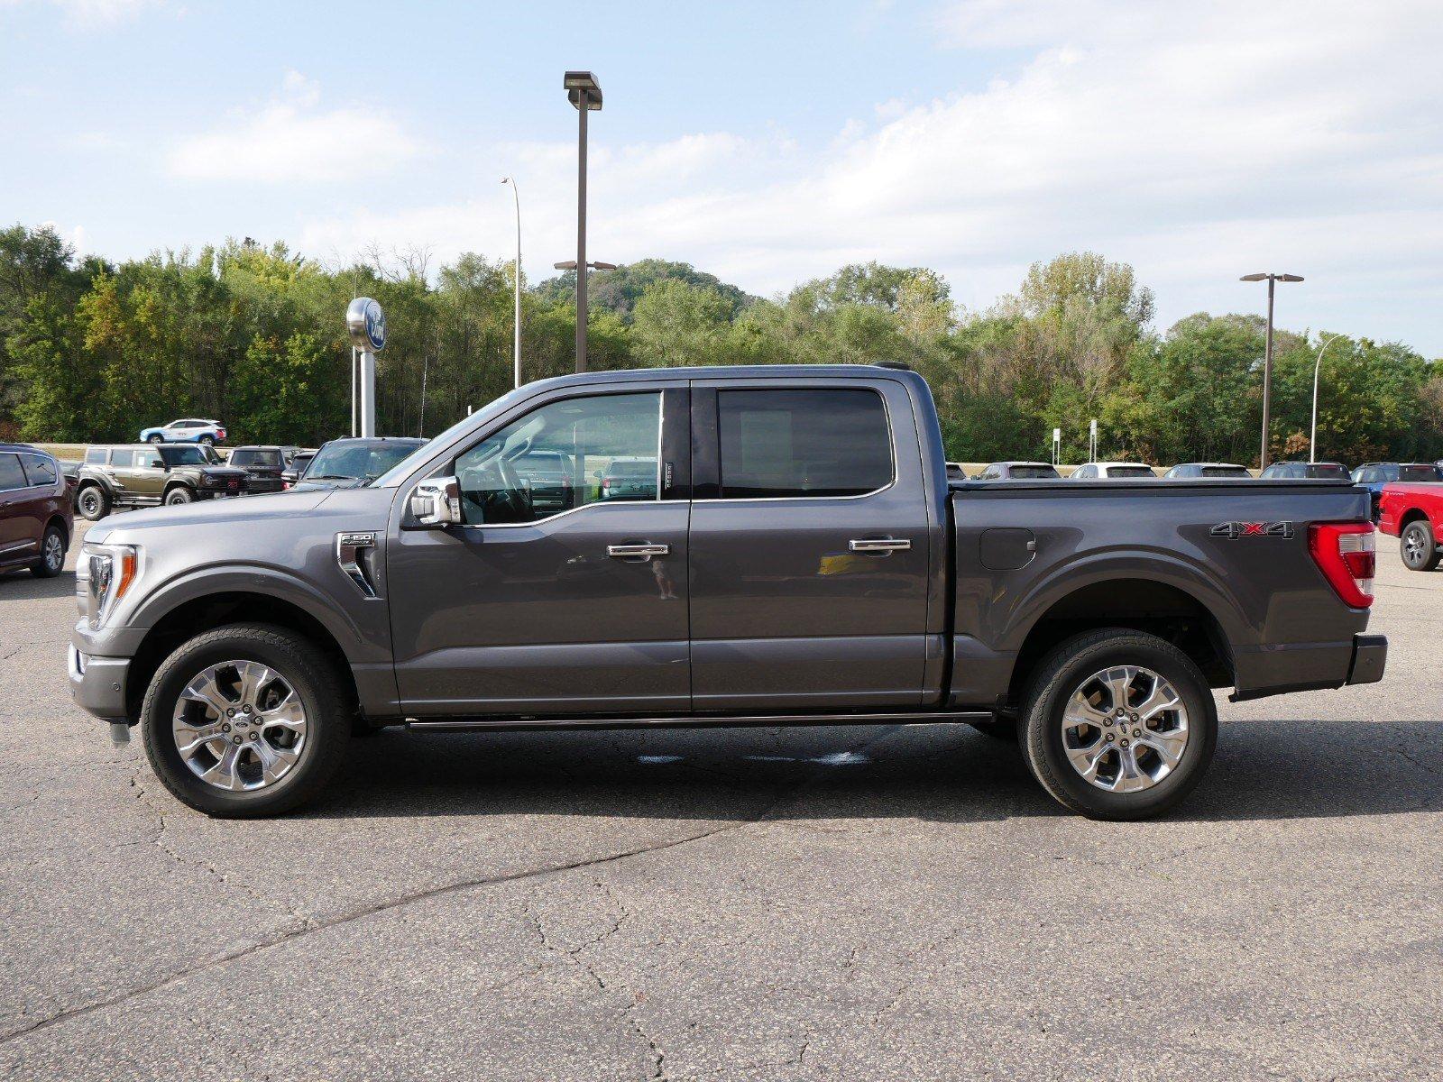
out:
{"label": "small isolated white cloud in the blue upper-left sky", "polygon": [[277,98],[177,143],[166,172],[179,180],[320,185],[390,172],[421,150],[385,111],[319,105],[319,84],[289,71]]}

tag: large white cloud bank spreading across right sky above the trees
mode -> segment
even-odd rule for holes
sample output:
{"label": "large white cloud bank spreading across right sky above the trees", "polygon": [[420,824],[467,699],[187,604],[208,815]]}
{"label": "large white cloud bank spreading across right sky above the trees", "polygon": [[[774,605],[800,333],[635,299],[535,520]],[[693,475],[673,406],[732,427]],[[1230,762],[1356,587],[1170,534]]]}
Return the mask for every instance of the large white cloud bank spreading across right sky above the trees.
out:
{"label": "large white cloud bank spreading across right sky above the trees", "polygon": [[[945,48],[1025,59],[880,102],[812,150],[746,133],[610,150],[593,134],[590,250],[690,260],[756,291],[848,260],[928,264],[986,306],[1032,260],[1092,248],[1134,263],[1163,322],[1255,307],[1237,274],[1271,267],[1309,276],[1291,326],[1352,320],[1443,352],[1431,316],[1410,326],[1392,307],[1400,286],[1443,290],[1436,0],[967,0],[937,25]],[[476,172],[512,169],[537,274],[574,242],[574,147],[504,147]],[[304,242],[499,255],[504,195],[338,214]]]}

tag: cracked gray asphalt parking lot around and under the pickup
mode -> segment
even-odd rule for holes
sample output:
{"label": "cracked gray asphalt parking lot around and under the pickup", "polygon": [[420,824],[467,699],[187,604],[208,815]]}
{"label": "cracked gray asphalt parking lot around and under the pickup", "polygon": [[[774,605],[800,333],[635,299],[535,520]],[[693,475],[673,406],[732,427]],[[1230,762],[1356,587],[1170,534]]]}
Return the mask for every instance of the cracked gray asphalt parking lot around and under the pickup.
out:
{"label": "cracked gray asphalt parking lot around and under the pickup", "polygon": [[71,705],[72,590],[0,579],[7,1078],[1443,1078],[1443,571],[1392,538],[1385,681],[1224,703],[1149,824],[965,727],[395,731],[211,821]]}

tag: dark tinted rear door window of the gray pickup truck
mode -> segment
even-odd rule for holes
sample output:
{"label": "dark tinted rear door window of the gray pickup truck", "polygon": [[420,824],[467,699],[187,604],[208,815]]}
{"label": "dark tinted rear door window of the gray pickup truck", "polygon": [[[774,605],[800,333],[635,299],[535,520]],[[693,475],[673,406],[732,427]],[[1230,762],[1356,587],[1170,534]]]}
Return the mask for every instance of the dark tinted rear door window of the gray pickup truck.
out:
{"label": "dark tinted rear door window of the gray pickup truck", "polygon": [[893,479],[876,391],[720,391],[717,427],[722,499],[863,496]]}

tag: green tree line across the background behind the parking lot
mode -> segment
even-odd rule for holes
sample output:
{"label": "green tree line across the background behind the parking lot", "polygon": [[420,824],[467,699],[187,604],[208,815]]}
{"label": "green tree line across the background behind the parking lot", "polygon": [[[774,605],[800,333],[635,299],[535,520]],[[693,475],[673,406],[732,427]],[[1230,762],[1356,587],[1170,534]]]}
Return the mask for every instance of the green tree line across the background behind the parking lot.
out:
{"label": "green tree line across the background behind the parking lot", "polygon": [[[346,303],[385,307],[377,426],[434,434],[511,388],[517,268],[424,251],[349,265],[227,241],[113,263],[49,228],[0,229],[0,439],[133,440],[173,417],[216,417],[229,440],[315,446],[351,426]],[[688,264],[642,260],[590,278],[597,369],[903,362],[931,384],[948,456],[1087,456],[1257,465],[1264,327],[1196,313],[1153,327],[1153,294],[1094,252],[1035,264],[983,312],[924,267],[848,265],[772,299]],[[576,278],[522,293],[522,378],[571,371]],[[1316,351],[1274,340],[1271,456],[1307,454]],[[1443,457],[1443,366],[1397,342],[1338,338],[1323,361],[1317,457]]]}

